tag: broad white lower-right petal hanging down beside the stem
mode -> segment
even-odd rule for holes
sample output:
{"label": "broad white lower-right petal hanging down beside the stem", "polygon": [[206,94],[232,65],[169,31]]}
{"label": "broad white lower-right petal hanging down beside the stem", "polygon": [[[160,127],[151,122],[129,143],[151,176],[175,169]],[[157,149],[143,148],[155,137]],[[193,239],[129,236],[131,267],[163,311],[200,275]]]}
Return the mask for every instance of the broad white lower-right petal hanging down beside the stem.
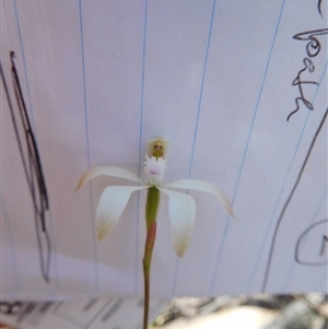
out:
{"label": "broad white lower-right petal hanging down beside the stem", "polygon": [[168,196],[168,216],[175,252],[183,257],[195,224],[196,203],[192,197],[163,187],[159,189]]}

